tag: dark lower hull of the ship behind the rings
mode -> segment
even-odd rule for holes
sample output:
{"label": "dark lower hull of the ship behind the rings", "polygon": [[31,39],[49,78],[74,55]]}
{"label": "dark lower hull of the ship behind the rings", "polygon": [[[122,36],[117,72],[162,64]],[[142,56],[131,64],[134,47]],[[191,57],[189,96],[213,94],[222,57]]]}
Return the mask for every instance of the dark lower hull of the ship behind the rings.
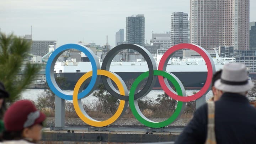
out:
{"label": "dark lower hull of the ship behind the rings", "polygon": [[[132,84],[140,74],[143,72],[116,72],[123,80],[126,82],[127,85]],[[186,89],[201,89],[204,86],[207,78],[207,72],[171,72],[180,79],[183,86]],[[64,77],[66,83],[68,83],[68,87],[63,89],[65,90],[74,90],[76,82],[81,78],[82,75],[85,73],[55,73],[54,76],[56,77]],[[85,86],[90,82],[90,80],[86,81]],[[101,80],[100,80],[101,82]],[[155,82],[153,89],[162,89],[158,79]]]}

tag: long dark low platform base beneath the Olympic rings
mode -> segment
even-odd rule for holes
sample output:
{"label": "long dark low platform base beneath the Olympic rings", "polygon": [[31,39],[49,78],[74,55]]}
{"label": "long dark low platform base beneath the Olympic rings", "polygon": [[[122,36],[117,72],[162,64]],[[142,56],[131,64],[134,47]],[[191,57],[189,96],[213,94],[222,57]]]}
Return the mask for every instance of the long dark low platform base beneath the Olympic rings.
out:
{"label": "long dark low platform base beneath the Olympic rings", "polygon": [[107,143],[173,143],[178,133],[68,133],[68,132],[44,132],[44,142],[107,142]]}

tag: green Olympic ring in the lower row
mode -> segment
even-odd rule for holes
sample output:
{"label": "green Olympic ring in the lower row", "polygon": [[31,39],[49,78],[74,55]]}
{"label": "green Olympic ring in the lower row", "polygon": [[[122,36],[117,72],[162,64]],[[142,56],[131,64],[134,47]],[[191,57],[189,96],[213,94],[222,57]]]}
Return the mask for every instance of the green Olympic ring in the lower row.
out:
{"label": "green Olympic ring in the lower row", "polygon": [[[136,87],[139,85],[139,83],[143,79],[147,78],[148,75],[149,75],[149,72],[147,71],[147,72],[139,75],[138,78],[133,82],[133,85],[130,89],[130,94],[129,94],[130,109],[131,109],[134,117],[137,118],[138,121],[141,122],[142,124],[144,124],[145,126],[148,126],[151,128],[161,128],[161,127],[168,126],[172,122],[175,122],[176,118],[178,118],[178,116],[180,115],[180,113],[182,111],[183,104],[184,104],[183,102],[178,101],[177,108],[176,108],[175,112],[172,114],[172,116],[162,122],[154,122],[154,121],[149,120],[141,113],[140,110],[137,110],[139,108],[135,107],[135,103],[138,104],[137,100],[134,100],[134,93],[135,93]],[[169,81],[172,82],[172,84],[176,88],[177,94],[179,96],[182,96],[181,86],[178,84],[177,80],[173,76],[171,76],[169,73],[167,73],[165,71],[160,71],[160,70],[154,70],[154,75],[160,75],[160,76],[167,78]],[[138,111],[140,112],[140,114],[138,113]]]}

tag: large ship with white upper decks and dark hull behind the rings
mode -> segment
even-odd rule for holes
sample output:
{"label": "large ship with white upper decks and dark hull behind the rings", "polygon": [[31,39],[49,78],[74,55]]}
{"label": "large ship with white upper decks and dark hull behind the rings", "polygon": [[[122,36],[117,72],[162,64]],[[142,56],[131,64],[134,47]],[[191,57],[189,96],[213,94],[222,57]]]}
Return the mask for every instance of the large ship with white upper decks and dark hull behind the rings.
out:
{"label": "large ship with white upper decks and dark hull behind the rings", "polygon": [[[157,66],[161,57],[162,55],[155,57]],[[218,54],[213,60],[216,71],[222,69],[226,63],[235,62],[235,58],[220,58]],[[100,62],[101,64],[102,62]],[[67,89],[72,90],[78,79],[91,70],[90,62],[76,62],[76,59],[73,59],[73,61],[56,62],[54,75],[55,77],[65,77],[66,82],[70,84]],[[148,71],[148,65],[140,59],[137,59],[136,62],[112,62],[110,71],[118,74],[125,82],[129,83],[140,74]],[[187,89],[200,89],[207,78],[207,66],[203,58],[171,58],[167,64],[166,71],[175,74]],[[158,80],[154,89],[161,89]]]}

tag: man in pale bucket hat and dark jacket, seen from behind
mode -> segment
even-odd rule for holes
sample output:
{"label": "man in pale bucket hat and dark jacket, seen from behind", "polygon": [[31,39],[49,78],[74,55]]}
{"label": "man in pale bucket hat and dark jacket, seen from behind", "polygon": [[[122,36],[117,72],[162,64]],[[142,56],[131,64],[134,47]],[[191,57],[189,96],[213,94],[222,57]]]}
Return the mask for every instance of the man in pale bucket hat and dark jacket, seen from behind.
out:
{"label": "man in pale bucket hat and dark jacket, seen from behind", "polygon": [[256,143],[256,108],[246,97],[254,84],[247,76],[244,64],[224,65],[221,78],[214,83],[223,95],[199,107],[175,143]]}

